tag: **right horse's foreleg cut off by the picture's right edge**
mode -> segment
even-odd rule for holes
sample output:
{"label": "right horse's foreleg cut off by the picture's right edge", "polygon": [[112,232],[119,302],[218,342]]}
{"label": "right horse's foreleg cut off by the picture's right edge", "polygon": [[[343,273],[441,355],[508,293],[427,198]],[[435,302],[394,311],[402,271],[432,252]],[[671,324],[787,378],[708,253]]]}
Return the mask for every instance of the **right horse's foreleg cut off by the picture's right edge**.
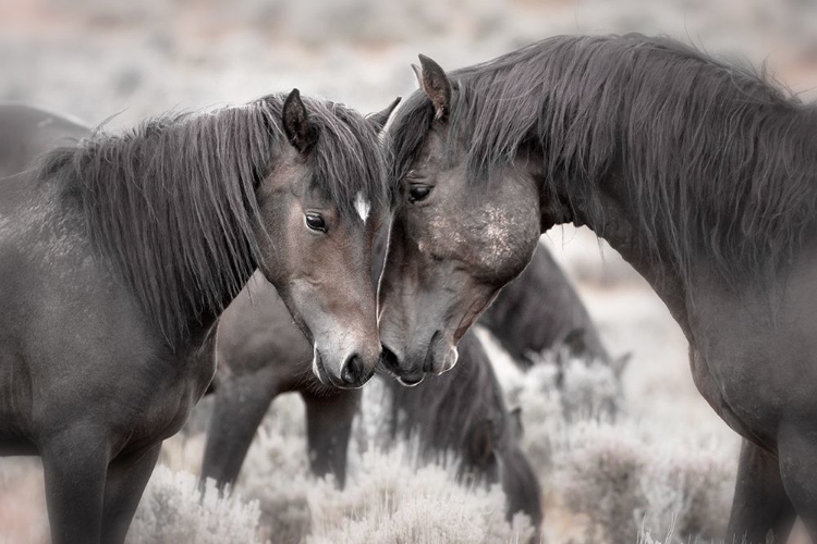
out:
{"label": "right horse's foreleg cut off by the picture's right edge", "polygon": [[817,436],[813,426],[804,426],[805,432],[783,426],[779,433],[780,474],[812,542],[817,542]]}

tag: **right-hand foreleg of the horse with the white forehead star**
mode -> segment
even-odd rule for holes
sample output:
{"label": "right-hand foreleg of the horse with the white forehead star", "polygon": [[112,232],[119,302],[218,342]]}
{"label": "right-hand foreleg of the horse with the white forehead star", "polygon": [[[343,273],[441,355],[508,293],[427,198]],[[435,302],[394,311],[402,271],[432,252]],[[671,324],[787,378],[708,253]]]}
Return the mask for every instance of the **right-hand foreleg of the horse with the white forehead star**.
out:
{"label": "right-hand foreleg of the horse with the white forehead star", "polygon": [[102,510],[102,542],[106,544],[120,544],[125,541],[131,520],[154,472],[160,450],[161,442],[147,449],[117,458],[108,466]]}

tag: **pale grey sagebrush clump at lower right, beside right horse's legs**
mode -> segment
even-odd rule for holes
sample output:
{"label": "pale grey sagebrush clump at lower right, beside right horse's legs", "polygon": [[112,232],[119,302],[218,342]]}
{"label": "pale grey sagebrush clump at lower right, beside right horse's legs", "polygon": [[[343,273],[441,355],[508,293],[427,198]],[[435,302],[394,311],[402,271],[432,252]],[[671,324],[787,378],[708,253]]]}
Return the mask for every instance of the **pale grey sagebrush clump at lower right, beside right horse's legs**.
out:
{"label": "pale grey sagebrush clump at lower right, beside right horse's legs", "polygon": [[632,542],[674,526],[679,541],[721,537],[732,502],[736,452],[708,436],[666,436],[637,420],[564,426],[553,446],[550,484],[590,519],[589,533]]}

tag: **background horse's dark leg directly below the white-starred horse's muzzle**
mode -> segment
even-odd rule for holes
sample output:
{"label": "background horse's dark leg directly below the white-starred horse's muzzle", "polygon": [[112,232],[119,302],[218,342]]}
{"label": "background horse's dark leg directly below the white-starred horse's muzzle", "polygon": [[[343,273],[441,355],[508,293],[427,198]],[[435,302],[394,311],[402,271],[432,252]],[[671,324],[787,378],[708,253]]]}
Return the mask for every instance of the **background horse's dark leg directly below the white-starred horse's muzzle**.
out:
{"label": "background horse's dark leg directly below the white-starred horse's muzzle", "polygon": [[317,396],[301,392],[306,404],[306,440],[309,466],[317,477],[334,474],[340,487],[346,483],[346,455],[352,422],[361,401],[359,390]]}

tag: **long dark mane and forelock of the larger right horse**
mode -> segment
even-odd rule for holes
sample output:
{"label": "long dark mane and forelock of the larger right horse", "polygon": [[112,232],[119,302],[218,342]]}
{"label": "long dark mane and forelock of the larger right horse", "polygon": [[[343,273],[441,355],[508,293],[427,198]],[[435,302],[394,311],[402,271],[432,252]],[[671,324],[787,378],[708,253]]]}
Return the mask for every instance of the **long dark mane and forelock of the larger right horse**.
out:
{"label": "long dark mane and forelock of the larger right horse", "polygon": [[[773,273],[814,225],[815,109],[741,63],[668,38],[558,36],[449,73],[451,161],[486,183],[520,152],[545,157],[547,187],[602,218],[601,184],[634,196],[645,255],[683,281],[698,251],[730,283]],[[415,91],[389,131],[390,183],[434,120]],[[603,236],[603,230],[598,232]]]}

